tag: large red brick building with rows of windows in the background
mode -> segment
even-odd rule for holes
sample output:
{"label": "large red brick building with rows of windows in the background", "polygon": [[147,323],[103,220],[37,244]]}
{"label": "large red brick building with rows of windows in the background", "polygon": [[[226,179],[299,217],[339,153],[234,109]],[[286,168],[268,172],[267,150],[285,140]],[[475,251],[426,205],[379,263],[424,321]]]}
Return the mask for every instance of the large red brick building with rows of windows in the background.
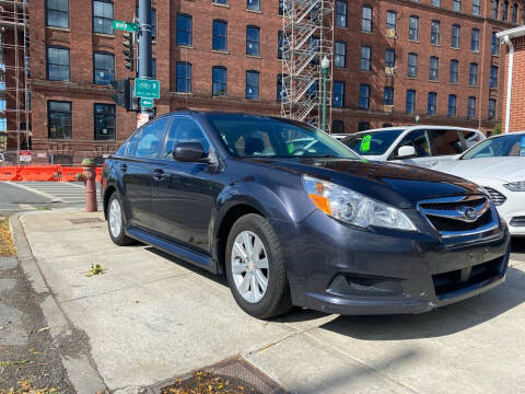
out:
{"label": "large red brick building with rows of windows in the background", "polygon": [[[153,0],[158,114],[279,115],[281,4]],[[485,130],[499,121],[504,67],[494,33],[523,23],[523,0],[338,0],[336,9],[335,132],[413,124],[416,115]],[[130,0],[31,2],[33,149],[103,154],[133,130],[135,114],[114,105],[108,82],[133,77],[110,21],[135,12]]]}

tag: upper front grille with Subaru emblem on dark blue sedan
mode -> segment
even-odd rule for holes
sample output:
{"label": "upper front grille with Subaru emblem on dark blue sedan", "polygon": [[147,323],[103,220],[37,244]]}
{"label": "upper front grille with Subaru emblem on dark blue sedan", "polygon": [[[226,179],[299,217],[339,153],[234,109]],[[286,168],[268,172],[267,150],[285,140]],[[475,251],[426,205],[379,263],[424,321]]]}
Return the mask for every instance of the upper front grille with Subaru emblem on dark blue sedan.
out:
{"label": "upper front grille with Subaru emblem on dark blue sedan", "polygon": [[420,201],[419,210],[442,236],[466,235],[498,224],[498,215],[486,196],[447,197]]}

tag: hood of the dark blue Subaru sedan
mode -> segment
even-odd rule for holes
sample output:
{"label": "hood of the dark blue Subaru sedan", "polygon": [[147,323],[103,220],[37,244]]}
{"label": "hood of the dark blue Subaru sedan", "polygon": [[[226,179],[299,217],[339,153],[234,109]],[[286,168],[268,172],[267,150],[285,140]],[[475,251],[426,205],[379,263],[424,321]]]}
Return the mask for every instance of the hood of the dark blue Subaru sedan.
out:
{"label": "hood of the dark blue Subaru sedan", "polygon": [[482,193],[471,182],[411,165],[313,158],[249,160],[332,182],[399,208],[413,208],[423,199]]}

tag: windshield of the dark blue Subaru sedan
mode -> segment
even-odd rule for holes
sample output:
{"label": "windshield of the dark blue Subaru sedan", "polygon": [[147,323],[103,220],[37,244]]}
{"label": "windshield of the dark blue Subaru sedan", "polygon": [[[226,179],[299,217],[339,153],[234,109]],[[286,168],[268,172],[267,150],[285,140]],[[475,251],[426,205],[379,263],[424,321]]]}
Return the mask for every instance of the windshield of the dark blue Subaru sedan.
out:
{"label": "windshield of the dark blue Subaru sedan", "polygon": [[208,119],[236,158],[359,159],[326,132],[299,121],[236,114],[209,114]]}

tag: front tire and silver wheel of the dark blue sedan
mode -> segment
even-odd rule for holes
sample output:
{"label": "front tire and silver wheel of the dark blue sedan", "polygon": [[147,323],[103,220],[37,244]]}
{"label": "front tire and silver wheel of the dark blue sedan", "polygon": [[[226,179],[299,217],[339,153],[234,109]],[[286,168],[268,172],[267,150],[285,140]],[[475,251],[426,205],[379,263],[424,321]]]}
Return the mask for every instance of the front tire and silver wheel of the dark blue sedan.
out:
{"label": "front tire and silver wheel of the dark blue sedan", "polygon": [[[246,244],[249,245],[250,257]],[[257,318],[269,318],[292,309],[281,244],[270,223],[261,216],[249,213],[233,224],[228,236],[225,267],[233,298],[246,313]],[[267,280],[262,291],[264,277]]]}

